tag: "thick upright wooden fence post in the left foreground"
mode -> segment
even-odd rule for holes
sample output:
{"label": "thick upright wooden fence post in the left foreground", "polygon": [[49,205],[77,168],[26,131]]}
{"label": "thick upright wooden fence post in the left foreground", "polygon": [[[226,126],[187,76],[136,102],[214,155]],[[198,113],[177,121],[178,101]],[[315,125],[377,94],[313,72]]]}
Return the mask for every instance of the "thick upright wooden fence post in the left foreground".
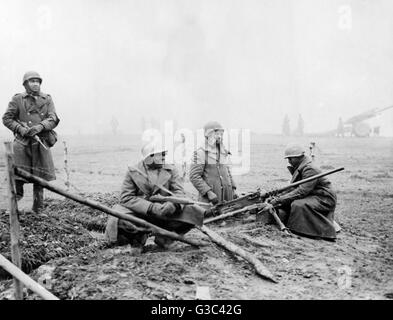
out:
{"label": "thick upright wooden fence post in the left foreground", "polygon": [[[19,269],[22,266],[19,249],[19,218],[18,204],[16,201],[15,175],[14,175],[14,155],[11,142],[4,142],[5,157],[7,164],[7,184],[8,184],[8,202],[10,208],[10,235],[11,235],[11,257],[12,263]],[[23,285],[14,277],[15,300],[23,300]]]}

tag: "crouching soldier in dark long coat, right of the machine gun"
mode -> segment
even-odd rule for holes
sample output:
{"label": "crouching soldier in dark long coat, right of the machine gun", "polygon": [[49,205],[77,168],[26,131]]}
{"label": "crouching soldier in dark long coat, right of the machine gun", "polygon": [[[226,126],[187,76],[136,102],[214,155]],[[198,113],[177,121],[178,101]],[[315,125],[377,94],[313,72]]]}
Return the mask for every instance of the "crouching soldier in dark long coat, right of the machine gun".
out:
{"label": "crouching soldier in dark long coat, right of the machine gun", "polygon": [[[285,149],[288,169],[292,174],[291,183],[321,173],[305,150],[299,145]],[[304,183],[292,191],[274,198],[264,210],[278,207],[277,214],[282,222],[294,233],[322,238],[336,239],[340,227],[334,221],[336,193],[326,177]]]}

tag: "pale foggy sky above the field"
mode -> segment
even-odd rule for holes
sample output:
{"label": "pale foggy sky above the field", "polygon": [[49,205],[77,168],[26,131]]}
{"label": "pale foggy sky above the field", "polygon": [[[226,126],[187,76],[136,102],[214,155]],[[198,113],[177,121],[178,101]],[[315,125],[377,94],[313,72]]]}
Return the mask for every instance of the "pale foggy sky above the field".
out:
{"label": "pale foggy sky above the field", "polygon": [[[391,0],[1,1],[2,110],[37,70],[59,133],[112,117],[280,133],[285,114],[334,129],[393,105],[392,15]],[[392,110],[371,121],[393,135]]]}

